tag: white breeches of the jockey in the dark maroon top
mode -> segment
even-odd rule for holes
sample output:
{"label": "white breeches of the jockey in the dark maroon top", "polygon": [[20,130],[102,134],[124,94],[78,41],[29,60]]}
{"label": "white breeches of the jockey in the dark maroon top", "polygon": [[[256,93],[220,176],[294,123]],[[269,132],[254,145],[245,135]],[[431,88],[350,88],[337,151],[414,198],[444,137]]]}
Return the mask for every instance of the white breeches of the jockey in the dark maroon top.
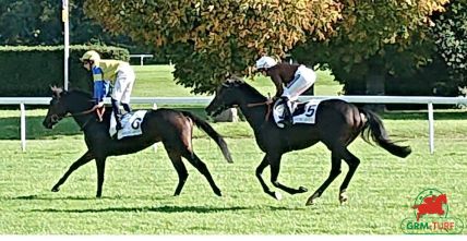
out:
{"label": "white breeches of the jockey in the dark maroon top", "polygon": [[295,79],[284,87],[282,97],[287,97],[290,100],[297,100],[303,92],[311,87],[316,81],[316,73],[300,65],[295,72]]}

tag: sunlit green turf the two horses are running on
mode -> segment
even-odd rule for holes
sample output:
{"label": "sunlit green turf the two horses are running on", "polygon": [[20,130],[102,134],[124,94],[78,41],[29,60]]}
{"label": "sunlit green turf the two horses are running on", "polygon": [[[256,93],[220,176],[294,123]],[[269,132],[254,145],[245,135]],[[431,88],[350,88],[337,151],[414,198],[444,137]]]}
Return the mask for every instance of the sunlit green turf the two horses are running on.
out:
{"label": "sunlit green turf the two horses are running on", "polygon": [[[323,194],[318,205],[304,202],[330,171],[330,153],[319,144],[284,156],[279,180],[310,191],[274,201],[261,190],[254,170],[263,154],[247,123],[214,123],[229,136],[235,164],[223,158],[213,141],[195,131],[194,149],[223,190],[217,197],[204,178],[187,164],[190,177],[180,196],[171,196],[177,174],[159,145],[141,153],[110,157],[104,197],[96,200],[93,162],[70,177],[59,193],[49,190],[85,152],[83,136],[71,120],[52,131],[40,126],[45,110],[31,110],[27,152],[17,140],[17,111],[2,111],[0,131],[0,233],[14,234],[154,234],[154,233],[403,233],[400,222],[414,217],[410,206],[427,188],[446,192],[450,215],[465,221],[467,196],[467,123],[463,112],[440,113],[435,121],[435,153],[428,150],[423,113],[384,115],[386,128],[414,153],[407,159],[357,140],[351,152],[361,166],[348,189],[349,204],[340,206],[337,192],[344,176]],[[14,128],[16,126],[16,128]],[[15,130],[14,130],[15,129]],[[268,169],[263,174],[268,181]],[[343,171],[347,166],[343,165]],[[466,233],[464,230],[463,233]]]}

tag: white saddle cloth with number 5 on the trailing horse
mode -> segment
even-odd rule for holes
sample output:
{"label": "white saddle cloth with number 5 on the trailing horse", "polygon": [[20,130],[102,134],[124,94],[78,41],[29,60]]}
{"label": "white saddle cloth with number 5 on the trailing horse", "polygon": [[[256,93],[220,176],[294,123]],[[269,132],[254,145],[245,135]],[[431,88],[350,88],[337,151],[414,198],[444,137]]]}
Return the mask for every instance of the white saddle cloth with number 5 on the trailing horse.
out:
{"label": "white saddle cloth with number 5 on the trailing horse", "polygon": [[[320,99],[311,99],[307,103],[292,101],[292,119],[294,124],[303,123],[303,124],[314,124],[316,117],[316,109],[320,105]],[[284,108],[285,104],[279,99],[274,104],[273,107],[273,117],[277,126],[284,128]]]}

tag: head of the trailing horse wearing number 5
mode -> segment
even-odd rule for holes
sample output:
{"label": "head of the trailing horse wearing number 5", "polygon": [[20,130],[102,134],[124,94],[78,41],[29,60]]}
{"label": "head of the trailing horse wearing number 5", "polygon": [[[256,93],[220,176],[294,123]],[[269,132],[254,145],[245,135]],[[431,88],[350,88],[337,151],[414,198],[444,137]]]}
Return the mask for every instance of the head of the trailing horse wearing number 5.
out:
{"label": "head of the trailing horse wearing number 5", "polygon": [[217,89],[216,96],[206,107],[208,116],[216,116],[221,111],[238,105],[241,97],[239,96],[239,87],[246,83],[238,77],[230,77],[224,82]]}

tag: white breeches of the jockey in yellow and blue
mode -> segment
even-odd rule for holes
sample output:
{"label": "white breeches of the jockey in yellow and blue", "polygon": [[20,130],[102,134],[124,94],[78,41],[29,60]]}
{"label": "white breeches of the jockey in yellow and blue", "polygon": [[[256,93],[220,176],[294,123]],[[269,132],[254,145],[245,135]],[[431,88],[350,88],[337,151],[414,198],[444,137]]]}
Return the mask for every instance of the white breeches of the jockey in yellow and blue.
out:
{"label": "white breeches of the jockey in yellow and blue", "polygon": [[117,71],[117,80],[113,86],[111,98],[119,103],[130,104],[131,91],[134,84],[134,71],[130,64],[121,65]]}

